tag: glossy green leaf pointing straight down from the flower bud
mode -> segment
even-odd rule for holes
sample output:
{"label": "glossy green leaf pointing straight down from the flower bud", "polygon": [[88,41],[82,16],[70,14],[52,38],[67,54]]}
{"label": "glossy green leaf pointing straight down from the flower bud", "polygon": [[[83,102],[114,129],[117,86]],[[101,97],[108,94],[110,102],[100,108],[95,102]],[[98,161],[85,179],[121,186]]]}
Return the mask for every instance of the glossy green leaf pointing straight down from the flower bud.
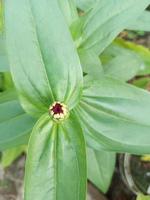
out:
{"label": "glossy green leaf pointing straight down from the flower bud", "polygon": [[42,116],[29,142],[25,200],[85,200],[86,179],[85,143],[76,117],[54,123]]}

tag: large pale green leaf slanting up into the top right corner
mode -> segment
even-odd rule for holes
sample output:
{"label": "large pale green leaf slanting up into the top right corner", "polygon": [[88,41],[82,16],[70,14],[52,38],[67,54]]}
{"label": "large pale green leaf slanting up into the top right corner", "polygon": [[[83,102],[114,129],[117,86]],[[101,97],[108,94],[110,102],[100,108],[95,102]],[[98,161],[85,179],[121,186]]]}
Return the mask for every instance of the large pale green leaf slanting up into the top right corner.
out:
{"label": "large pale green leaf slanting up into the top right corner", "polygon": [[80,48],[93,49],[99,55],[149,3],[149,0],[98,1],[83,26]]}

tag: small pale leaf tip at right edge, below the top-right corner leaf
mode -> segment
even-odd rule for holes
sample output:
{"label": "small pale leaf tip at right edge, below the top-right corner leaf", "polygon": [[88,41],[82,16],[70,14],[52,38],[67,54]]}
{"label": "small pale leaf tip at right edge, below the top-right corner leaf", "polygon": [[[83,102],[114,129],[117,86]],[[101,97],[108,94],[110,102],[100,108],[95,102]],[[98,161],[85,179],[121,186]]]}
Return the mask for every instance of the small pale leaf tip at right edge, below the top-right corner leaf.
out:
{"label": "small pale leaf tip at right edge, below the top-right corner leaf", "polygon": [[150,31],[150,12],[144,11],[127,29],[137,31]]}

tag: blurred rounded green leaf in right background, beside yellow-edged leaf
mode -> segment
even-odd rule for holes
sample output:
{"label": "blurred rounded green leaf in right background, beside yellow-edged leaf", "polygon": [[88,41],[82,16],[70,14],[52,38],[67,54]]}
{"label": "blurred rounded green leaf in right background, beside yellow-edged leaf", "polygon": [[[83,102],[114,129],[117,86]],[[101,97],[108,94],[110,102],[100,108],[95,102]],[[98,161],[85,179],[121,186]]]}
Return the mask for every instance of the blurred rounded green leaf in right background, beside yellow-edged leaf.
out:
{"label": "blurred rounded green leaf in right background, beside yellow-edged leaf", "polygon": [[129,51],[118,54],[104,65],[104,72],[108,76],[128,81],[137,75],[142,67],[142,59],[134,52]]}

